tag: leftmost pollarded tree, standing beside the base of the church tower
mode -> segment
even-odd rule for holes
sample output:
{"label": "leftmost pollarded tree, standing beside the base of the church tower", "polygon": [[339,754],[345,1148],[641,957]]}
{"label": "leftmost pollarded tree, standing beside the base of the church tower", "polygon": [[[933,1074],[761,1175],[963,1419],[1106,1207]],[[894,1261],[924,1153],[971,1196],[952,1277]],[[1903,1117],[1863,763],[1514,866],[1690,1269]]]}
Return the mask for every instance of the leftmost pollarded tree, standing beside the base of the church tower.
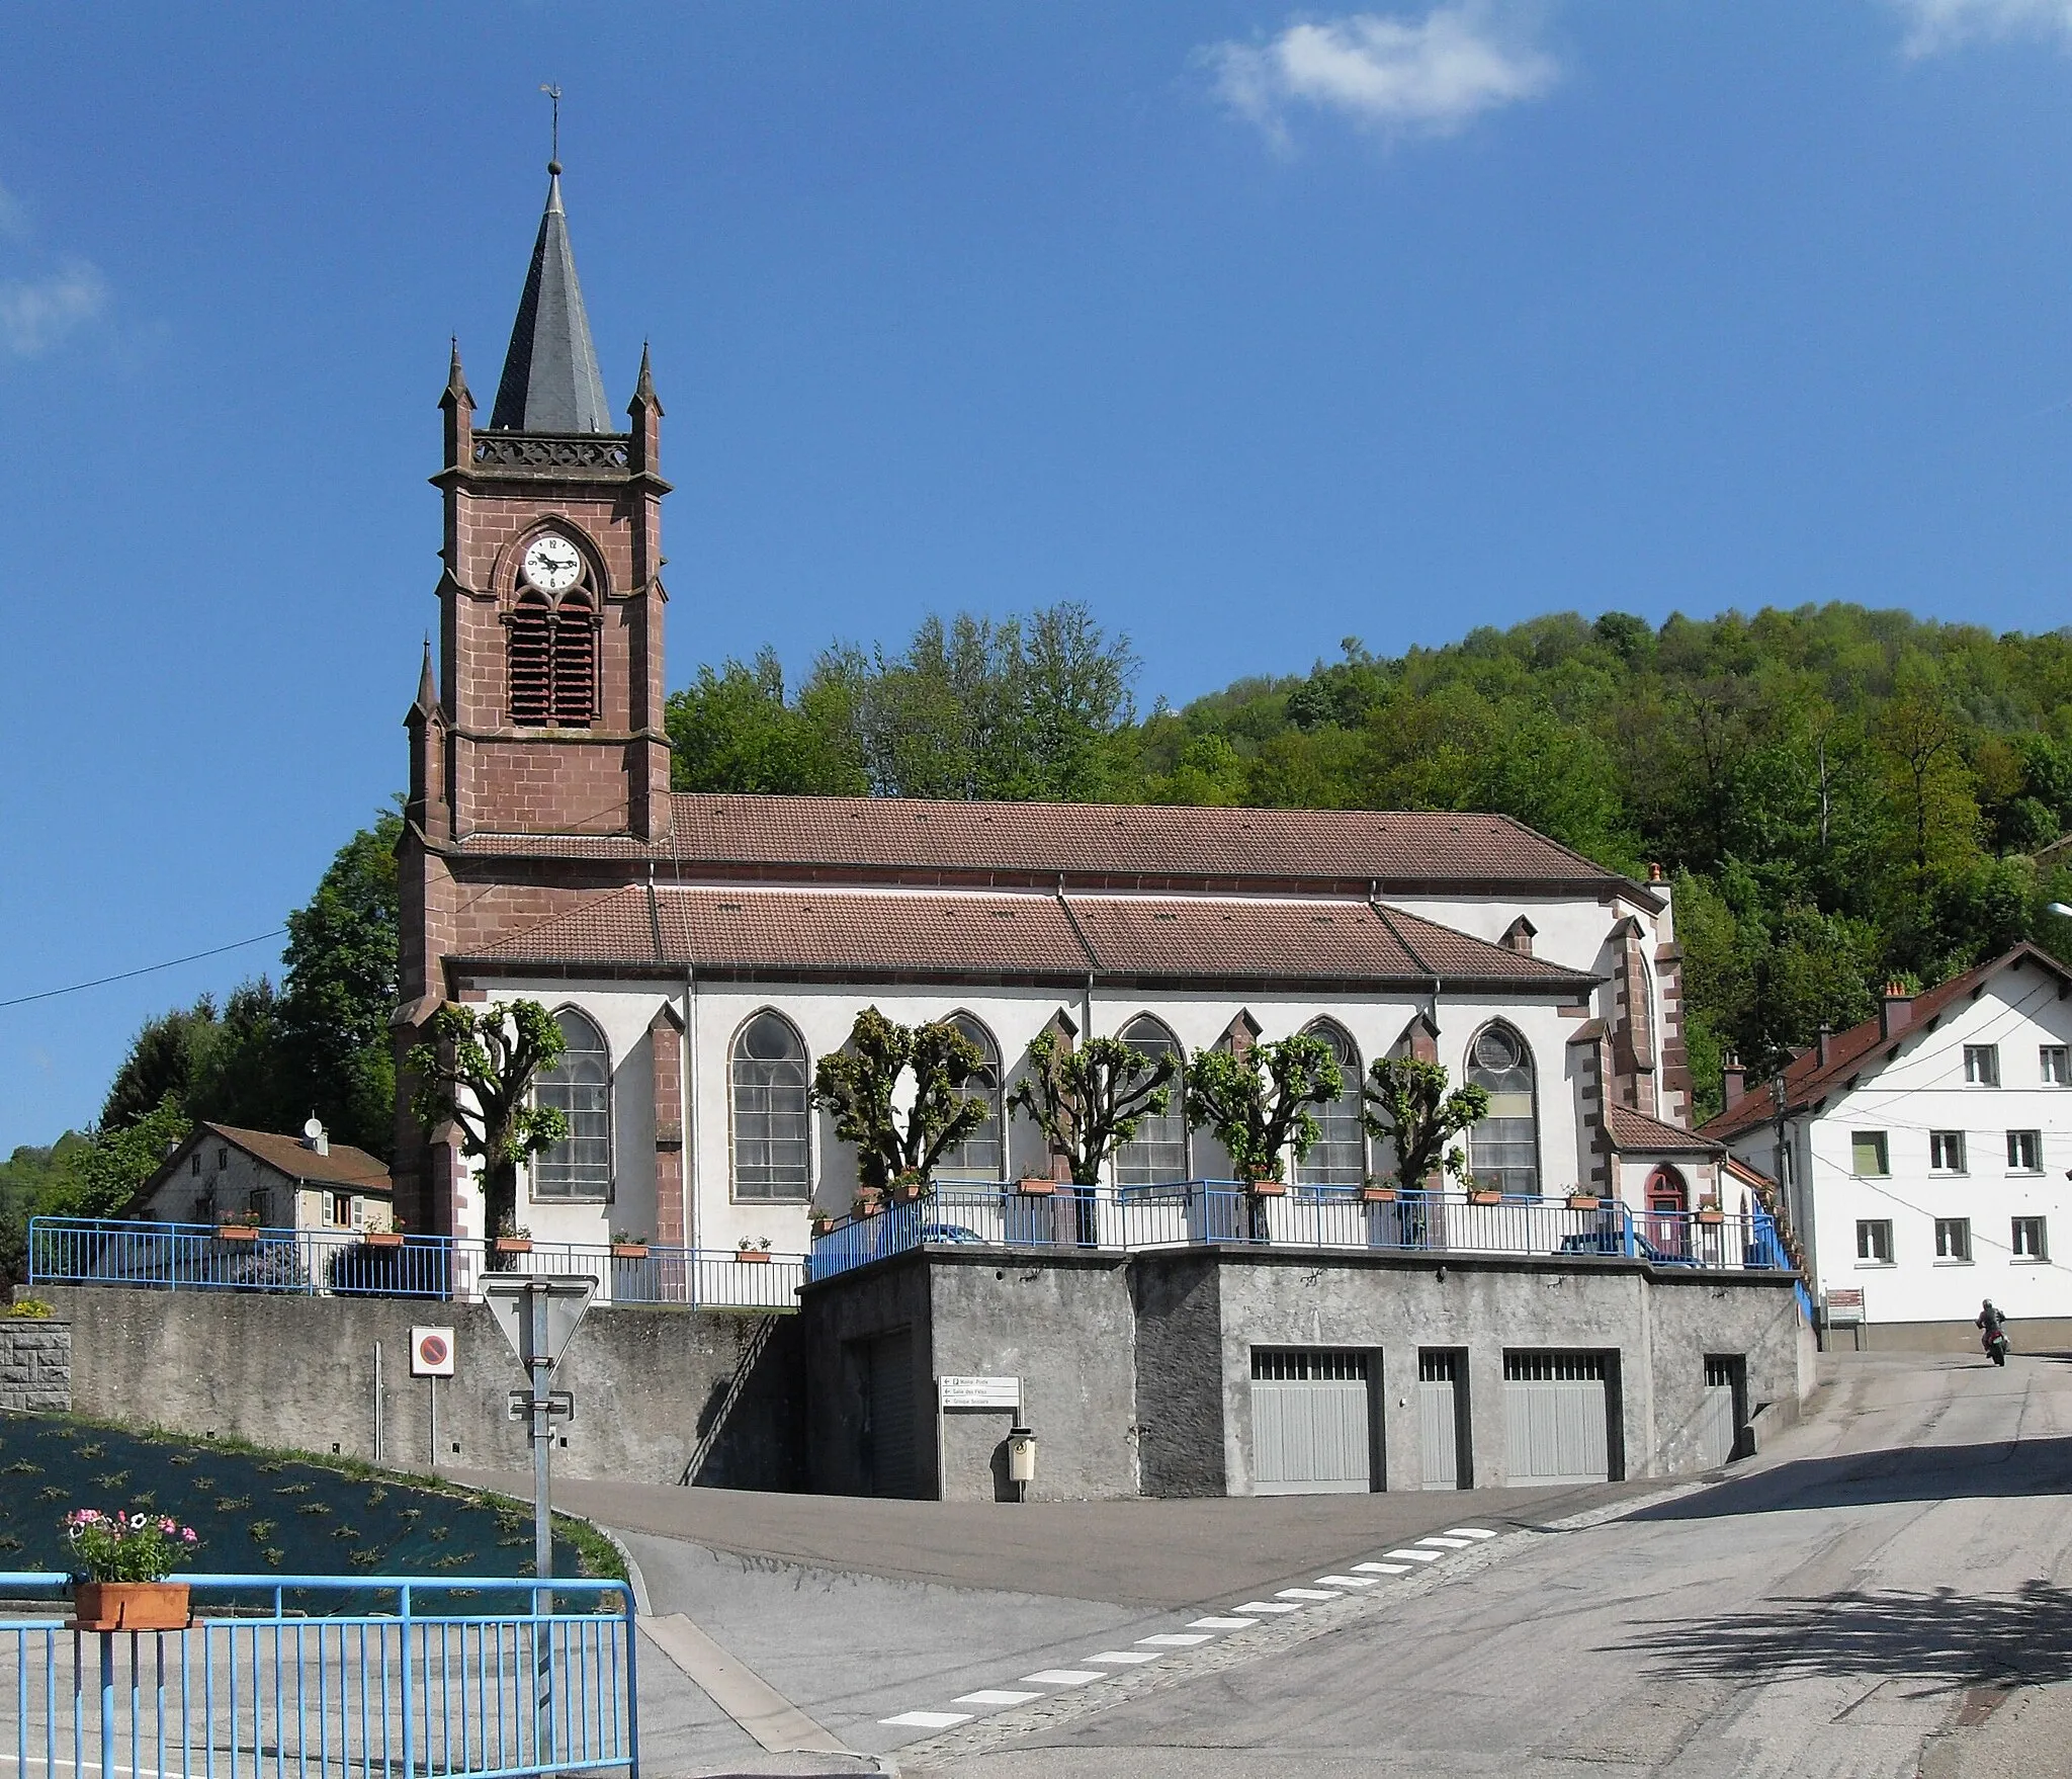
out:
{"label": "leftmost pollarded tree, standing beside the base of the church tower", "polygon": [[460,1153],[483,1163],[483,1217],[495,1236],[516,1225],[518,1163],[568,1136],[559,1107],[533,1103],[533,1080],[566,1047],[539,1001],[468,1008],[448,1001],[431,1016],[431,1041],[412,1047],[410,1111],[427,1132],[452,1120]]}

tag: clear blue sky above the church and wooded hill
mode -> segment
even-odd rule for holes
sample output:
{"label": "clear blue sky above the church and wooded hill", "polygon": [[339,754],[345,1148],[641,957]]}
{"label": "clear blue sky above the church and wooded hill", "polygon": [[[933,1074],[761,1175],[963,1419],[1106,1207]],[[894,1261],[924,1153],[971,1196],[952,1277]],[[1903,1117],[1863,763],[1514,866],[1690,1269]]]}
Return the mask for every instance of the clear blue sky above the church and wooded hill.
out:
{"label": "clear blue sky above the church and wooded hill", "polygon": [[[2072,0],[0,15],[0,999],[402,782],[566,91],[671,684],[1090,601],[1175,701],[1535,612],[2066,610]],[[278,945],[0,1008],[0,1151]]]}

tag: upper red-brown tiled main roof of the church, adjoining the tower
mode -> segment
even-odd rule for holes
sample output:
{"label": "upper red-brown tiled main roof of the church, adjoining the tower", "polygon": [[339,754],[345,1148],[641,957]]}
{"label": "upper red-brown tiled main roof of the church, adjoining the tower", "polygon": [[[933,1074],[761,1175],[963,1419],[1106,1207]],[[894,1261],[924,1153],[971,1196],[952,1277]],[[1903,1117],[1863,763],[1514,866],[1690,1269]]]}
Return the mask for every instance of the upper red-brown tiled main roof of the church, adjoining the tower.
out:
{"label": "upper red-brown tiled main roof of the church, adjoining the tower", "polygon": [[1113,802],[926,802],[893,796],[675,792],[671,831],[474,834],[454,852],[655,858],[682,869],[945,873],[1001,881],[1268,879],[1397,885],[1624,879],[1502,815],[1372,809],[1198,809]]}

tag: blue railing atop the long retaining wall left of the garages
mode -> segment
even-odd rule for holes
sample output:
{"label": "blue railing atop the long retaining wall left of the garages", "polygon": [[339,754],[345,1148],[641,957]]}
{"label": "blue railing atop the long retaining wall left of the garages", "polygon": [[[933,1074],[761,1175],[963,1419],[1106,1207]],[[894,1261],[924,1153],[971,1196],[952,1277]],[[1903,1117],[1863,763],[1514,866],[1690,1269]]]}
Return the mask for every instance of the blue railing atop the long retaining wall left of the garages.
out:
{"label": "blue railing atop the long retaining wall left of the garages", "polygon": [[744,1261],[729,1252],[603,1242],[479,1242],[356,1230],[232,1230],[31,1217],[31,1286],[151,1286],[170,1292],[294,1292],[340,1298],[472,1300],[491,1271],[586,1273],[605,1304],[794,1310],[800,1254]]}

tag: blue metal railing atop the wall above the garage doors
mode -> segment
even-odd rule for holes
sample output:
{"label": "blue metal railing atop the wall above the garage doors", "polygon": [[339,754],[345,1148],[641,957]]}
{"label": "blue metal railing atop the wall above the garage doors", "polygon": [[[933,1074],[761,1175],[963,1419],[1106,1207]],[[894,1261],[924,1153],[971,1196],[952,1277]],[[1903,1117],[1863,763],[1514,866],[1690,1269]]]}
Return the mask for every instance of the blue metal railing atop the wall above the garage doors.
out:
{"label": "blue metal railing atop the wall above the garage doors", "polygon": [[806,1277],[827,1279],[928,1244],[1125,1252],[1272,1244],[1790,1271],[1763,1211],[1633,1211],[1616,1198],[1571,1209],[1566,1198],[1475,1203],[1467,1192],[1368,1201],[1357,1190],[1297,1188],[1258,1196],[1233,1180],[1121,1188],[1061,1182],[1030,1194],[1005,1184],[943,1180],[926,1198],[845,1217],[816,1236]]}

